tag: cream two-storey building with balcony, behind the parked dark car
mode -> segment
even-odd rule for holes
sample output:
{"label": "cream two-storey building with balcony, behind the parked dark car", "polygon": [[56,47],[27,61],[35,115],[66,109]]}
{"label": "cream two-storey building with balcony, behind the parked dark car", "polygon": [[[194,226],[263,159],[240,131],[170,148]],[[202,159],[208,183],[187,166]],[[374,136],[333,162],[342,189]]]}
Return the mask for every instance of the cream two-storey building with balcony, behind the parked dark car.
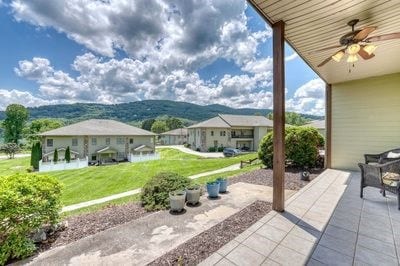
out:
{"label": "cream two-storey building with balcony, behind the parked dark car", "polygon": [[220,114],[188,127],[188,143],[200,151],[208,151],[210,147],[254,151],[270,130],[272,121],[264,116]]}

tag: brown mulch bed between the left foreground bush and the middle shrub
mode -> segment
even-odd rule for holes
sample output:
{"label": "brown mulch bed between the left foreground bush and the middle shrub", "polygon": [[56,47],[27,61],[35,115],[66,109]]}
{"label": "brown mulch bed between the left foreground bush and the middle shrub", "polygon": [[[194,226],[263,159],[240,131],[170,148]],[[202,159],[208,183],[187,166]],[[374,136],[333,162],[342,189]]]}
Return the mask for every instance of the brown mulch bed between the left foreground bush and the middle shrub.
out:
{"label": "brown mulch bed between the left foreground bush and the middle shrub", "polygon": [[66,219],[67,228],[50,236],[46,243],[41,243],[38,251],[42,252],[56,246],[66,245],[111,227],[139,219],[150,213],[138,203],[127,203],[109,205],[99,211],[71,216]]}

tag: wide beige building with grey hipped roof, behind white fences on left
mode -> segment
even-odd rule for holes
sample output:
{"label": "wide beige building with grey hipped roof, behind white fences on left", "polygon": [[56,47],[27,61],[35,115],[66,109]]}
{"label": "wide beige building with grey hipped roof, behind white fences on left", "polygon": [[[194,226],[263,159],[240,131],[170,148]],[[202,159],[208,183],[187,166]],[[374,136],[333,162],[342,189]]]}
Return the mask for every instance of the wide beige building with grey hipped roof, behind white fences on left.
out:
{"label": "wide beige building with grey hipped roof, behind white fences on left", "polygon": [[43,162],[57,149],[64,159],[69,146],[72,159],[89,162],[125,161],[129,155],[154,153],[156,134],[114,120],[90,119],[40,134]]}

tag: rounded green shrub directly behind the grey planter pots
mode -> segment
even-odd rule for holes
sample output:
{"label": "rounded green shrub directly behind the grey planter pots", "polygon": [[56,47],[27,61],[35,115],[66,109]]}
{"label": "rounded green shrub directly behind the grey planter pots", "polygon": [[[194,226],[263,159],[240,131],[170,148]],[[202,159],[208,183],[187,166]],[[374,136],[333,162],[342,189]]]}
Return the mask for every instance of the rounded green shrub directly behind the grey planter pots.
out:
{"label": "rounded green shrub directly behind the grey planter pots", "polygon": [[182,190],[190,185],[189,178],[177,173],[159,173],[147,181],[142,188],[140,198],[148,211],[166,209],[169,207],[169,192]]}

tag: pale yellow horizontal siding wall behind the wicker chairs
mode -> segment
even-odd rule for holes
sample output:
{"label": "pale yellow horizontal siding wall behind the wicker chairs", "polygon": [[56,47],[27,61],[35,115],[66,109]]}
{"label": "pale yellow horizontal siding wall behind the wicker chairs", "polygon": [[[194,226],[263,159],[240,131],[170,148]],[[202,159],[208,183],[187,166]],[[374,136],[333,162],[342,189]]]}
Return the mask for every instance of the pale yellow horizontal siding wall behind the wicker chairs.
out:
{"label": "pale yellow horizontal siding wall behind the wicker chairs", "polygon": [[[357,70],[355,70],[357,71]],[[400,147],[400,73],[332,85],[332,167]]]}

